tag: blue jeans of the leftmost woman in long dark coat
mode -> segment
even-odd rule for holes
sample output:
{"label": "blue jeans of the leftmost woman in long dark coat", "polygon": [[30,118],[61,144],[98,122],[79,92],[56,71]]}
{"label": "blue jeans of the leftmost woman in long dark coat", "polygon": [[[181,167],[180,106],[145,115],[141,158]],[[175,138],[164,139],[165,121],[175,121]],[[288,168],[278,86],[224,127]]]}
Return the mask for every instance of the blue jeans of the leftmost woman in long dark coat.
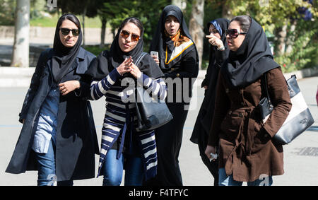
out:
{"label": "blue jeans of the leftmost woman in long dark coat", "polygon": [[[37,159],[37,185],[38,186],[52,186],[57,181],[55,175],[55,145],[52,139],[49,143],[49,150],[47,153],[35,153]],[[58,186],[72,186],[73,181],[59,181]]]}

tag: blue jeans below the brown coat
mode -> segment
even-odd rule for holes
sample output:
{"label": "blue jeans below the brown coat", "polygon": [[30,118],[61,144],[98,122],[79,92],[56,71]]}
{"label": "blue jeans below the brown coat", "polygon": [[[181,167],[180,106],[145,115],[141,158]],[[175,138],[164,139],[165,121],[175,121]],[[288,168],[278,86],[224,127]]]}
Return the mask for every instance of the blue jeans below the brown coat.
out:
{"label": "blue jeans below the brown coat", "polygon": [[[242,186],[243,182],[233,180],[233,175],[226,175],[225,169],[218,169],[218,185],[219,186]],[[247,182],[247,186],[271,186],[273,178],[271,176],[261,176],[258,180]]]}

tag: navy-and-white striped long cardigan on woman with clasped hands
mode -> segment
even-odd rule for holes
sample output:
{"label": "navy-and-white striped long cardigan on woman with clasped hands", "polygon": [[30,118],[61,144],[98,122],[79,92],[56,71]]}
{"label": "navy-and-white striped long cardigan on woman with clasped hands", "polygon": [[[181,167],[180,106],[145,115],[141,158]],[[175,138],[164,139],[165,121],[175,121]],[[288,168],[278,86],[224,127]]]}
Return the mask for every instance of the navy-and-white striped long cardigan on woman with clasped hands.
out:
{"label": "navy-and-white striped long cardigan on woman with clasped hands", "polygon": [[[134,81],[130,78],[128,81],[131,85],[127,86],[125,79],[121,80],[122,76],[117,69],[113,69],[101,81],[93,81],[90,85],[90,95],[92,100],[98,100],[102,96],[106,97],[106,113],[104,123],[102,126],[102,142],[100,150],[100,161],[98,167],[98,176],[100,169],[104,163],[107,151],[112,148],[114,142],[121,136],[119,151],[117,151],[117,158],[122,153],[125,134],[131,134],[136,129],[130,129],[131,125],[136,127],[136,109],[134,102],[127,102],[131,95],[134,95]],[[127,79],[128,80],[128,79]],[[158,78],[153,80],[146,74],[137,80],[147,91],[150,91],[153,97],[158,96],[160,100],[165,100],[167,96],[167,88],[163,79]],[[124,86],[122,86],[124,85]],[[134,99],[134,98],[133,98]],[[145,171],[145,179],[148,180],[154,177],[157,172],[157,151],[155,144],[154,131],[140,131],[138,134],[131,134],[131,136],[139,137],[141,147],[141,158],[143,158],[143,166]]]}

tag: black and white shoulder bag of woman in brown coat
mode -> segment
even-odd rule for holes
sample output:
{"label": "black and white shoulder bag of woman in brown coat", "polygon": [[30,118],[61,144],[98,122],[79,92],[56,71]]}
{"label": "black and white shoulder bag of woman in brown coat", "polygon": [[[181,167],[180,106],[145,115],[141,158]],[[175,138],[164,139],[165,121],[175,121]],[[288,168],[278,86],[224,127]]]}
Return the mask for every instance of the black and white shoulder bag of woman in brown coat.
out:
{"label": "black and white shoulder bag of woman in brown coat", "polygon": [[[262,90],[265,90],[266,96],[259,102],[259,111],[261,113],[261,119],[266,122],[269,114],[273,111],[273,105],[269,98],[269,92],[267,88],[266,74],[261,77]],[[314,124],[314,118],[310,113],[310,110],[305,102],[305,98],[302,96],[296,76],[291,76],[287,81],[288,93],[292,102],[292,109],[290,110],[287,119],[283,123],[281,129],[273,136],[273,140],[277,143],[287,144],[293,141],[297,136],[306,131],[312,124]]]}

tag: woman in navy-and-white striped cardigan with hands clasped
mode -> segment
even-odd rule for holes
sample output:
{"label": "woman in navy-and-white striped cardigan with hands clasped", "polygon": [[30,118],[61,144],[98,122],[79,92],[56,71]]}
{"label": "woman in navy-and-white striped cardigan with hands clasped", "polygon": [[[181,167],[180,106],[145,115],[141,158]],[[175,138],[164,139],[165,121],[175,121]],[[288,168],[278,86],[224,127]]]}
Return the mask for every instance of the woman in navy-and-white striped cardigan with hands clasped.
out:
{"label": "woman in navy-and-white striped cardigan with hands clasped", "polygon": [[163,73],[149,54],[143,52],[143,25],[137,18],[126,18],[120,25],[110,51],[102,52],[88,74],[92,100],[106,97],[106,113],[102,127],[102,146],[98,176],[103,185],[120,185],[125,170],[125,185],[141,185],[157,172],[154,131],[136,131],[134,105],[135,83],[153,97],[165,100]]}

